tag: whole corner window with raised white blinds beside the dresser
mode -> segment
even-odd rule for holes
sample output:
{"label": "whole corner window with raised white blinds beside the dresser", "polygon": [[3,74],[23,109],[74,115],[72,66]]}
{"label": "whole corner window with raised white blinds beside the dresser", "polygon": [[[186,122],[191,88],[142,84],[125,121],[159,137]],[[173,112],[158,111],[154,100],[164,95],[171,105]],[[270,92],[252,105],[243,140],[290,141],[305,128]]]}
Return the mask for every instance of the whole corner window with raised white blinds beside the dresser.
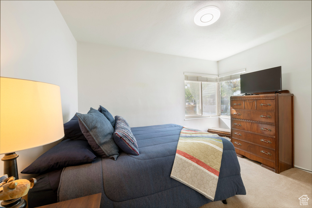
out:
{"label": "whole corner window with raised white blinds beside the dresser", "polygon": [[184,73],[185,118],[230,116],[230,97],[241,95],[240,74],[244,72],[219,76]]}

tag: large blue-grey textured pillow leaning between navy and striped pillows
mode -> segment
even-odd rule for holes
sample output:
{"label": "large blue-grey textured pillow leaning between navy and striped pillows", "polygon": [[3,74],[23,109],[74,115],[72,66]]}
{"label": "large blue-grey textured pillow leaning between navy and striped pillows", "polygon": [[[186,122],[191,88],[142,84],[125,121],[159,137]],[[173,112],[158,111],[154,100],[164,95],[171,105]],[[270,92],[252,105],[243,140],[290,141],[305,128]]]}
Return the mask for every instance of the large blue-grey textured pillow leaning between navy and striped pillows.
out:
{"label": "large blue-grey textured pillow leaning between navy and striped pillows", "polygon": [[119,156],[118,146],[114,142],[114,128],[98,110],[90,108],[87,114],[76,113],[80,129],[91,148],[102,158]]}

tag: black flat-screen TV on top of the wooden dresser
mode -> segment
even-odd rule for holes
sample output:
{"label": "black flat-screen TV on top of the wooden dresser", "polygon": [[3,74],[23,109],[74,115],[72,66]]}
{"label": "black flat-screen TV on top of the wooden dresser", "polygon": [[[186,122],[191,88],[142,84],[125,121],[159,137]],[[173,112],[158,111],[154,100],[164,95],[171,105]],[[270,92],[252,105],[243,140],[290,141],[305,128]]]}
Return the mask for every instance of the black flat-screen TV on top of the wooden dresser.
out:
{"label": "black flat-screen TV on top of the wooden dresser", "polygon": [[282,67],[241,75],[241,93],[275,92],[282,90]]}

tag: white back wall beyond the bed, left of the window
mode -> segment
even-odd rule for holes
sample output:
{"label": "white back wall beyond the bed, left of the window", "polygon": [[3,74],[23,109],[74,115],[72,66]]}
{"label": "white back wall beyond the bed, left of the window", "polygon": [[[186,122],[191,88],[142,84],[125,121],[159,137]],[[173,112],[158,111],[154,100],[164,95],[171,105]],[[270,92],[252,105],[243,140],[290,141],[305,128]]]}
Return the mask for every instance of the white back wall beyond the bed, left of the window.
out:
{"label": "white back wall beyond the bed, left of the window", "polygon": [[217,74],[217,62],[77,43],[78,111],[105,107],[131,127],[176,123],[207,131],[218,118],[185,121],[183,72]]}

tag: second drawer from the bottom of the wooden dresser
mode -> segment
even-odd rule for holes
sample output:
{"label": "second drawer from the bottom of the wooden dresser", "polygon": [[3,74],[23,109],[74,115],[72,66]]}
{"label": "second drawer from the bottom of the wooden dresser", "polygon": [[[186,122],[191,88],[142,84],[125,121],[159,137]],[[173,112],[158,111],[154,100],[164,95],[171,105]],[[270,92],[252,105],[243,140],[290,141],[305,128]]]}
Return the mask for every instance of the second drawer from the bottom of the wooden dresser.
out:
{"label": "second drawer from the bottom of the wooden dresser", "polygon": [[246,142],[259,144],[267,148],[275,149],[275,138],[272,137],[266,137],[255,133],[232,129],[232,138],[237,138]]}

